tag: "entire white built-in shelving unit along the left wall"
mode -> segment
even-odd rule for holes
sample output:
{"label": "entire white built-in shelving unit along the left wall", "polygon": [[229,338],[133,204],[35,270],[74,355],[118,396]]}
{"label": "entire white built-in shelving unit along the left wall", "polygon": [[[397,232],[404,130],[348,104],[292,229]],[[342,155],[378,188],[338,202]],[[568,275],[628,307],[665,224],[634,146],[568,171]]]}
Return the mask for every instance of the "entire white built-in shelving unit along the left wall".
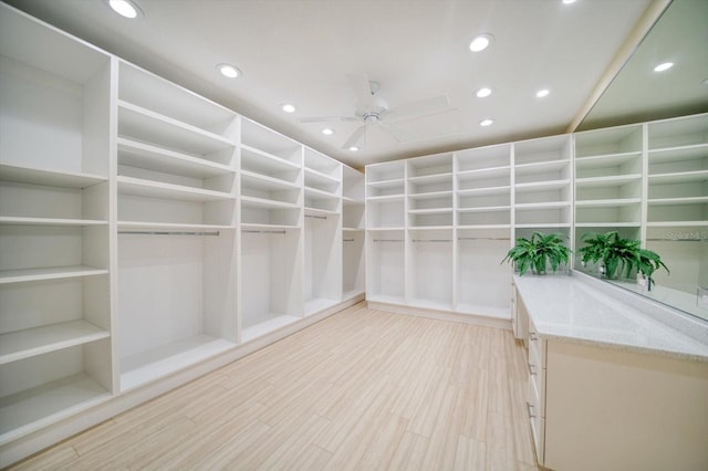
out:
{"label": "entire white built-in shelving unit along the left wall", "polygon": [[0,467],[364,299],[364,176],[0,4]]}

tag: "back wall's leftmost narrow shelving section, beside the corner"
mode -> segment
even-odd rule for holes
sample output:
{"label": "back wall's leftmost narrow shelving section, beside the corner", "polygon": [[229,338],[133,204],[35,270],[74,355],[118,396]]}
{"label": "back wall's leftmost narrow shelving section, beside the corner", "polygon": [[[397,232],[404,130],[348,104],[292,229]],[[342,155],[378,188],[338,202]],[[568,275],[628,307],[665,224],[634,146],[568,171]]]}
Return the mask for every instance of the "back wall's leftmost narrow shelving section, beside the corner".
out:
{"label": "back wall's leftmost narrow shelving section, beside the corner", "polygon": [[366,299],[405,304],[406,163],[366,166]]}

